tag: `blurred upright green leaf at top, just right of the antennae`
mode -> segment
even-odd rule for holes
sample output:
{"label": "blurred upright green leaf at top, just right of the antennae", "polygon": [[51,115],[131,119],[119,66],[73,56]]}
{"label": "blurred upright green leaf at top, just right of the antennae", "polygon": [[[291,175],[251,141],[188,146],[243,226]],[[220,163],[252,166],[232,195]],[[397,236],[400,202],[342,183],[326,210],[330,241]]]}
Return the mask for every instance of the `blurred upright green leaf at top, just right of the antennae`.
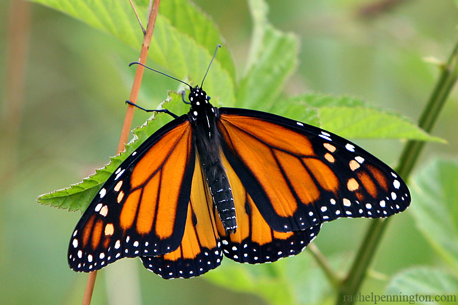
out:
{"label": "blurred upright green leaf at top, just right of the antennae", "polygon": [[237,106],[267,110],[297,65],[299,41],[267,22],[267,5],[262,0],[248,2],[253,19],[253,35],[247,70],[237,88]]}

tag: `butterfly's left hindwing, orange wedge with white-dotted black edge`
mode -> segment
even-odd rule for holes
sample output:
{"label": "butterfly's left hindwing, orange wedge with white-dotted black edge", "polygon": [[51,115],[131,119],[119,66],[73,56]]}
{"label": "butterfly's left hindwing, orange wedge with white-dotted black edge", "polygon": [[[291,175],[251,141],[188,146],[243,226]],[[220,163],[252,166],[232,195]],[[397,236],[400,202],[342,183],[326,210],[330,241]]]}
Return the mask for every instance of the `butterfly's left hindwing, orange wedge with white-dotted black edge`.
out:
{"label": "butterfly's left hindwing, orange wedge with white-dotted black edge", "polygon": [[145,267],[164,279],[187,279],[219,266],[222,260],[220,247],[213,214],[213,199],[208,191],[199,159],[196,158],[181,245],[177,250],[165,255],[143,256],[141,261]]}

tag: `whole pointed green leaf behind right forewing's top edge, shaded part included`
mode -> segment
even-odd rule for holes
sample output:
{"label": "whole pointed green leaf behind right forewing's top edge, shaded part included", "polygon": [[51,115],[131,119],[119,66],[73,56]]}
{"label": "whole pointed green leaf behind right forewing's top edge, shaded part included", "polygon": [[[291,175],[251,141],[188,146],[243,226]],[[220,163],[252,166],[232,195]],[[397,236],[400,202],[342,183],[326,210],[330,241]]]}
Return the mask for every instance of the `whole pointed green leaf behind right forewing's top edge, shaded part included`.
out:
{"label": "whole pointed green leaf behind right forewing's top edge, shaded part included", "polygon": [[345,138],[444,142],[427,134],[408,118],[371,107],[354,97],[307,94],[275,103],[269,111]]}

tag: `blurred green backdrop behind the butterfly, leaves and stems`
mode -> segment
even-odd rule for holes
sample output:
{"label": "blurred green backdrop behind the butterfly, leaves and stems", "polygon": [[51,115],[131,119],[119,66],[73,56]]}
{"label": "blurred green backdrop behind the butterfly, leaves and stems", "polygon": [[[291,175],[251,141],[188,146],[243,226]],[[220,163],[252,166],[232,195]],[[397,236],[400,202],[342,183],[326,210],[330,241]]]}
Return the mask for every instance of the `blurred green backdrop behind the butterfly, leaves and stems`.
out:
{"label": "blurred green backdrop behind the butterfly, leaves and stems", "polygon": [[[452,0],[406,0],[391,1],[386,10],[368,10],[384,2],[267,1],[270,22],[301,41],[300,63],[285,95],[356,96],[416,120],[438,76],[437,66],[424,57],[447,59],[457,37],[458,9]],[[195,3],[219,26],[242,71],[251,36],[246,2]],[[138,59],[138,51],[82,22],[32,4],[23,105],[11,121],[11,101],[4,94],[9,79],[5,72],[9,4],[0,2],[1,119],[5,130],[13,130],[0,134],[4,151],[0,303],[78,304],[87,275],[68,268],[66,253],[80,213],[40,205],[36,198],[79,182],[115,154],[133,80],[134,70],[127,64]],[[167,90],[176,88],[173,80],[147,73],[139,103],[156,107],[167,97]],[[434,155],[456,157],[457,108],[452,94],[434,130],[448,144],[427,144],[419,167]],[[148,116],[136,112],[134,126]],[[392,166],[403,147],[395,140],[356,142]],[[347,261],[358,249],[368,223],[340,219],[325,224],[314,242],[326,257]],[[239,268],[234,262],[225,263]],[[341,265],[345,270],[345,263]],[[361,293],[383,293],[386,276],[415,265],[435,266],[441,261],[417,231],[408,210],[391,222],[375,257],[373,276]],[[323,277],[320,270],[313,272]],[[125,259],[99,272],[93,304],[266,303],[259,296],[215,286],[205,278],[165,281],[142,268],[138,259]]]}

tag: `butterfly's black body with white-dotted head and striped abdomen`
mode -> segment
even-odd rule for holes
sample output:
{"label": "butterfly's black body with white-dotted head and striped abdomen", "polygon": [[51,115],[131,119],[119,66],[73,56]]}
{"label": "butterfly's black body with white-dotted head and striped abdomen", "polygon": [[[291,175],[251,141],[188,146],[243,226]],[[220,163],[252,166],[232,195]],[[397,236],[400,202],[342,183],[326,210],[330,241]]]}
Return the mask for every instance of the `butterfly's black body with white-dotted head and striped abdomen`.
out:
{"label": "butterfly's black body with white-dotted head and striped abdomen", "polygon": [[188,115],[193,128],[193,141],[213,204],[226,232],[235,233],[237,222],[234,198],[220,157],[221,136],[216,126],[219,119],[218,108],[210,104],[210,97],[198,86],[191,88],[188,98],[191,102]]}

